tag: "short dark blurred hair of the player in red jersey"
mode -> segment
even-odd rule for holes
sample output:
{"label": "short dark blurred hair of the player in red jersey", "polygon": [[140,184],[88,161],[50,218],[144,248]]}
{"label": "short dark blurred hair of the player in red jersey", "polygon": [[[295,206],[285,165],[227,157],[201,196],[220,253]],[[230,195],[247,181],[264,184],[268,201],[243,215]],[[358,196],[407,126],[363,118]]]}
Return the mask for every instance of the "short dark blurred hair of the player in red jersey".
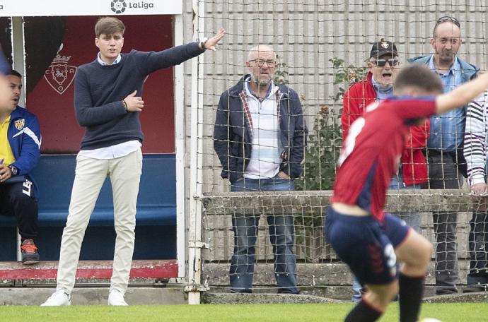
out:
{"label": "short dark blurred hair of the player in red jersey", "polygon": [[395,78],[395,90],[414,87],[427,93],[442,93],[441,78],[424,65],[409,64],[402,68]]}

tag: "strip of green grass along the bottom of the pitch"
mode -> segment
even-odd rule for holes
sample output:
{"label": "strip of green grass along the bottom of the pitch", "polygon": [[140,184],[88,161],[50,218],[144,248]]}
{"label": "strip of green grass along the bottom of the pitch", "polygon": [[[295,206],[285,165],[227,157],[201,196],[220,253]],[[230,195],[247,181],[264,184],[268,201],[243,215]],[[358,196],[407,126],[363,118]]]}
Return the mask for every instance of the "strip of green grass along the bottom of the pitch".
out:
{"label": "strip of green grass along the bottom of the pitch", "polygon": [[[75,321],[344,321],[352,304],[253,304],[253,305],[161,305],[161,306],[0,306],[0,319],[6,322]],[[380,319],[398,321],[398,306],[391,304]],[[488,304],[424,304],[421,317],[443,322],[488,321]]]}

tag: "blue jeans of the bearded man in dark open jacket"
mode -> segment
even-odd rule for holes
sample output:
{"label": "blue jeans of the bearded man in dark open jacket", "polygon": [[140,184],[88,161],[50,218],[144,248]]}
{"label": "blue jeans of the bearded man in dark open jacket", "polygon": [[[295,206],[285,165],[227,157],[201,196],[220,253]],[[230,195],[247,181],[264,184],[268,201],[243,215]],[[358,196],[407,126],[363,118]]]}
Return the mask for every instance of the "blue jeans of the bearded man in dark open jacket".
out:
{"label": "blue jeans of the bearded man in dark open jacket", "polygon": [[[231,191],[290,191],[294,182],[289,179],[241,179],[231,185]],[[292,214],[269,214],[266,216],[269,238],[273,245],[274,277],[278,293],[298,294],[296,287],[296,259],[294,246],[294,216]],[[252,292],[255,244],[260,215],[250,209],[249,213],[232,216],[234,252],[231,260],[231,287],[233,292]]]}

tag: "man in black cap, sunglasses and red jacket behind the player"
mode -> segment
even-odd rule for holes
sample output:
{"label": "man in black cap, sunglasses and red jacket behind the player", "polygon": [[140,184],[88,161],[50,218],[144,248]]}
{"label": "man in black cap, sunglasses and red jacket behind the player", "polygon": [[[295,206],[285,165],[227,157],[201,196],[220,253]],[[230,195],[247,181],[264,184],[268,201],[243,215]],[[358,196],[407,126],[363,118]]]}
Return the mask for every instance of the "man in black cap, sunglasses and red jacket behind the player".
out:
{"label": "man in black cap, sunglasses and red jacket behind the player", "polygon": [[[366,80],[355,83],[344,93],[342,109],[342,138],[347,138],[349,126],[362,117],[366,105],[371,102],[383,100],[393,95],[393,82],[399,70],[397,47],[393,42],[381,39],[371,48],[368,60],[368,74]],[[420,189],[420,184],[427,181],[427,167],[422,148],[429,134],[429,120],[419,126],[410,126],[410,133],[405,138],[405,149],[400,160],[400,169],[388,189]],[[417,232],[420,227],[419,213],[395,213],[414,228]],[[359,282],[353,280],[352,302],[361,301],[362,290]]]}

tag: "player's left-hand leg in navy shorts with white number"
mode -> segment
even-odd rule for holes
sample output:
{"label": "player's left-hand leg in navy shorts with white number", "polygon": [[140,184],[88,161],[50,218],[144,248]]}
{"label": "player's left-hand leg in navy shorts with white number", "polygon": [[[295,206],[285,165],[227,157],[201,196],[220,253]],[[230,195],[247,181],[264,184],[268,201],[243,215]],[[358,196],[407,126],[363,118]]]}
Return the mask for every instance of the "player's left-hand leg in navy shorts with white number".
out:
{"label": "player's left-hand leg in navy shorts with white number", "polygon": [[397,294],[397,261],[393,245],[371,216],[342,215],[329,207],[325,234],[368,291],[345,321],[376,321]]}

